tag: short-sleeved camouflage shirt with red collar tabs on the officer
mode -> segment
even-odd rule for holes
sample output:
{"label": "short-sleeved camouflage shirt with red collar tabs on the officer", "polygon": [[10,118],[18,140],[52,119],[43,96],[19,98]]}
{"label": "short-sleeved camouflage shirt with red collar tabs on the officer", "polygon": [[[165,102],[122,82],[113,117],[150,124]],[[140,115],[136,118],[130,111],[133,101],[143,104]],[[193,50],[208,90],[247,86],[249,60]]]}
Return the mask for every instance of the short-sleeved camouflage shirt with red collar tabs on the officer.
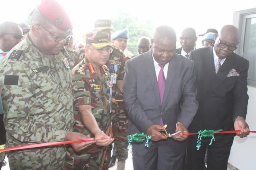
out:
{"label": "short-sleeved camouflage shirt with red collar tabs on the officer", "polygon": [[98,126],[105,131],[110,122],[109,99],[111,84],[110,73],[106,66],[101,66],[101,77],[98,77],[88,59],[84,58],[72,69],[73,98],[75,108],[74,131],[85,135],[91,134],[83,125],[79,116],[80,105],[91,105]]}

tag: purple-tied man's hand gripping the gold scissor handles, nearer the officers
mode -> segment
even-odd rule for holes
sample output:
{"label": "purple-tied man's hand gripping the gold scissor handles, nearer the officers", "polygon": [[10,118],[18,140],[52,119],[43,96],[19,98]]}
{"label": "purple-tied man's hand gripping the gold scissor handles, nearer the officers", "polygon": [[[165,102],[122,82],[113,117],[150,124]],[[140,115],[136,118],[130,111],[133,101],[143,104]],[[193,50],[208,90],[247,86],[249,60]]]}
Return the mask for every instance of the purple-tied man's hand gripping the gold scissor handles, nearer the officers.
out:
{"label": "purple-tied man's hand gripping the gold scissor handles, nearer the officers", "polygon": [[164,130],[164,128],[159,124],[153,124],[151,127],[149,127],[146,134],[152,136],[151,140],[155,142],[162,139],[167,139],[167,137],[160,133],[159,130]]}

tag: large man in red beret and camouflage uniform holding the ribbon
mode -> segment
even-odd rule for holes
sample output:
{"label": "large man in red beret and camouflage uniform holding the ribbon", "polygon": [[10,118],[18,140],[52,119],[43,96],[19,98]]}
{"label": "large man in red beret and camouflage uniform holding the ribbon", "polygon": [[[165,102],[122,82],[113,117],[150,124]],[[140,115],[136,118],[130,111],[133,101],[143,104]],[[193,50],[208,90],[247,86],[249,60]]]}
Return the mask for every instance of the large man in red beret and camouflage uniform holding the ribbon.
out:
{"label": "large man in red beret and camouflage uniform holding the ribbon", "polygon": [[[69,17],[55,0],[42,0],[31,20],[28,36],[0,64],[6,147],[91,139],[72,132],[73,56],[61,52]],[[92,143],[72,146],[79,151]],[[11,170],[63,170],[65,156],[65,145],[7,152]]]}

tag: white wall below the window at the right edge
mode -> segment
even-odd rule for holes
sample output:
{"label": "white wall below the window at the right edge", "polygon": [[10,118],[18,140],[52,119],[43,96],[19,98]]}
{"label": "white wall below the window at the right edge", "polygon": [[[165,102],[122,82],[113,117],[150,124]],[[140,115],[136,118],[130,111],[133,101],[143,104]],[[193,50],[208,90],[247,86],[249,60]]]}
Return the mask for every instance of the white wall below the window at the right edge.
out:
{"label": "white wall below the window at the right edge", "polygon": [[[256,87],[248,86],[249,103],[246,121],[250,130],[256,130]],[[235,137],[229,163],[239,170],[256,170],[256,133],[246,138]]]}

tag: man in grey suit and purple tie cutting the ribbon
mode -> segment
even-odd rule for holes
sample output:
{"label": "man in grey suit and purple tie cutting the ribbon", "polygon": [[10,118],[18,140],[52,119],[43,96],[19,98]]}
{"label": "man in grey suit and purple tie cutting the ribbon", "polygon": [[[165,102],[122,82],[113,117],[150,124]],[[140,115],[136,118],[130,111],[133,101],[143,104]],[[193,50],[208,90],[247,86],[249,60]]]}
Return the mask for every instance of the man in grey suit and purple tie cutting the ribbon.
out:
{"label": "man in grey suit and purple tie cutting the ribbon", "polygon": [[[176,34],[169,26],[156,29],[151,46],[126,62],[123,99],[130,118],[128,134],[152,135],[149,148],[133,144],[133,167],[183,170],[187,144],[183,134],[198,108],[193,61],[175,53]],[[163,136],[159,132],[163,124],[169,133],[181,131],[181,138]]]}

